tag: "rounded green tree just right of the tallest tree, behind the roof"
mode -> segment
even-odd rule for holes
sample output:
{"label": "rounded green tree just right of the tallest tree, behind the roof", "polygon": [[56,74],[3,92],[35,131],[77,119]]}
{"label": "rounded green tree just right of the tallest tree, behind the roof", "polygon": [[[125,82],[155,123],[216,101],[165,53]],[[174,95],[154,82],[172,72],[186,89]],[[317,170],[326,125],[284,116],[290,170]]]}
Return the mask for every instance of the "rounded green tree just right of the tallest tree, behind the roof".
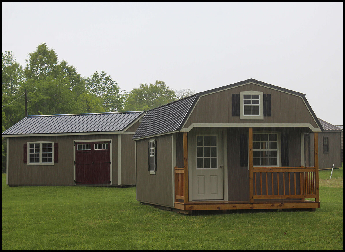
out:
{"label": "rounded green tree just right of the tallest tree, behind the roof", "polygon": [[103,103],[106,112],[121,111],[124,106],[120,88],[115,80],[104,71],[96,71],[85,80],[86,90],[97,96]]}

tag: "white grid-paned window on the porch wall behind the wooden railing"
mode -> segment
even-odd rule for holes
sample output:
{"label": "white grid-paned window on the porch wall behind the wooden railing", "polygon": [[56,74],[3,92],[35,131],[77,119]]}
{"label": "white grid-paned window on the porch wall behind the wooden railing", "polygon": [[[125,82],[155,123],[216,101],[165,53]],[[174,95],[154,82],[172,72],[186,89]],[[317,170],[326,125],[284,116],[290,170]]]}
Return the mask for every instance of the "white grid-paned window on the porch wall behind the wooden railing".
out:
{"label": "white grid-paned window on the porch wall behind the wooden railing", "polygon": [[253,133],[253,165],[278,166],[278,134]]}

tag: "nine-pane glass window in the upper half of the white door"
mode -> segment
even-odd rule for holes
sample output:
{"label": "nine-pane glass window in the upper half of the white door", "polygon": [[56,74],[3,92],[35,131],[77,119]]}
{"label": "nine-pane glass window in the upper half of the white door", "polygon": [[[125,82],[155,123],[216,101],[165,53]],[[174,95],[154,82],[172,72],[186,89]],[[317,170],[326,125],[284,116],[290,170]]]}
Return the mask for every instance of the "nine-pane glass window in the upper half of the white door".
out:
{"label": "nine-pane glass window in the upper half of the white door", "polygon": [[217,168],[216,135],[197,135],[197,168]]}

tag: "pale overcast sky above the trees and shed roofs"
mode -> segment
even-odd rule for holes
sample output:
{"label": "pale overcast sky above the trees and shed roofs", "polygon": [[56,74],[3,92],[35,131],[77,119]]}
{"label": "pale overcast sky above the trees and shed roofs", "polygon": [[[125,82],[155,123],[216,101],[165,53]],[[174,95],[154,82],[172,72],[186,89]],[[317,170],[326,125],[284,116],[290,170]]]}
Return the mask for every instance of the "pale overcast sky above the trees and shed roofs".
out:
{"label": "pale overcast sky above the trees and shed roofs", "polygon": [[164,81],[197,92],[254,78],[306,94],[343,124],[343,2],[2,2],[2,52],[40,43],[82,76],[105,71],[122,90]]}

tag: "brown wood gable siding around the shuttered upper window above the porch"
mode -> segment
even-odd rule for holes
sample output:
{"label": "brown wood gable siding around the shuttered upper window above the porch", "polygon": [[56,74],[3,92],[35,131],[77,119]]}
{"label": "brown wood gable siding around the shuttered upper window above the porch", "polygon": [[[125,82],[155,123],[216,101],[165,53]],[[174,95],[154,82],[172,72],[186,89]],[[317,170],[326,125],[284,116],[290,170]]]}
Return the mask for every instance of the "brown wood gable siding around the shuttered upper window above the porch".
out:
{"label": "brown wood gable siding around the shuttered upper window above the porch", "polygon": [[[231,95],[249,90],[271,95],[271,116],[264,116],[263,120],[240,120],[240,117],[232,116]],[[184,128],[193,123],[308,123],[318,128],[301,97],[255,84],[200,97]]]}

